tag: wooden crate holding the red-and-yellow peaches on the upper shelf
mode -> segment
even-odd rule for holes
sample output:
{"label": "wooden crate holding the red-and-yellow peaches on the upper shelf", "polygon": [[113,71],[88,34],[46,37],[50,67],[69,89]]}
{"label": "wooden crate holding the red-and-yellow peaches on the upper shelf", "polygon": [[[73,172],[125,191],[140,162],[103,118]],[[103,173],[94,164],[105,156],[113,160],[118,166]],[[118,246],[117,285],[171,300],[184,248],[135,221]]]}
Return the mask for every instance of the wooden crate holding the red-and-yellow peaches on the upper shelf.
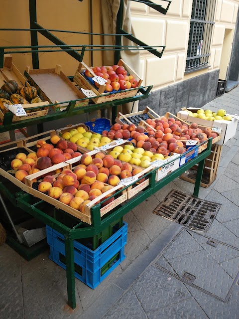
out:
{"label": "wooden crate holding the red-and-yellow peaches on the upper shelf", "polygon": [[[136,87],[134,90],[121,90],[119,93],[106,93],[104,96],[94,98],[92,101],[96,104],[98,103],[103,103],[103,102],[109,102],[109,101],[114,101],[118,99],[123,99],[123,98],[128,98],[132,97],[137,94],[139,86],[142,83],[142,79],[140,79],[139,75],[135,73],[123,60],[119,60],[118,62],[119,66],[124,66],[125,70],[129,73],[134,75],[135,79],[138,81],[138,87]],[[81,62],[78,66],[78,69],[76,70],[75,76],[74,76],[74,81],[79,85],[79,87],[87,90],[92,90],[96,96],[99,96],[104,93],[105,91],[105,84],[101,85],[99,87],[99,90],[97,90],[94,86],[92,86],[87,79],[85,78],[83,71],[84,70],[89,70],[93,76],[96,76],[96,74],[93,72],[91,68],[89,68],[84,62]],[[122,102],[123,103],[123,102]]]}

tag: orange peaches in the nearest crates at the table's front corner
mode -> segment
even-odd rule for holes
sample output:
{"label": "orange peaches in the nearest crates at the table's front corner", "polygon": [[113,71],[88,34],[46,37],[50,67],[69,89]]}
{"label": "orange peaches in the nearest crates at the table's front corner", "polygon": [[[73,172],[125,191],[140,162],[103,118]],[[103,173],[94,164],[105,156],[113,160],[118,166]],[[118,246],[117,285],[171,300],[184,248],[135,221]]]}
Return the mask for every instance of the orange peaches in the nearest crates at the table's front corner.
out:
{"label": "orange peaches in the nearest crates at the table's front corner", "polygon": [[[86,204],[112,189],[121,178],[133,176],[143,170],[140,167],[133,169],[130,164],[122,163],[111,155],[101,152],[95,156],[86,153],[81,157],[80,162],[73,171],[62,170],[57,178],[52,175],[45,176],[38,184],[38,190],[85,213]],[[113,191],[106,195],[97,203],[114,193]],[[115,197],[106,200],[102,203],[102,207],[114,199]]]}

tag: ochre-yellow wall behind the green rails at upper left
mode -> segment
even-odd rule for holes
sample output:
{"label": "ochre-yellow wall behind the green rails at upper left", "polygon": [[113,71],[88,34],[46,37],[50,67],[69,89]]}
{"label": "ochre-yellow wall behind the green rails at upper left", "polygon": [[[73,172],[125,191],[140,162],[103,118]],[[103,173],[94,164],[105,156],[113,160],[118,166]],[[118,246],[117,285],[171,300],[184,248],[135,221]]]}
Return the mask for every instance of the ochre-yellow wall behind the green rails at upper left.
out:
{"label": "ochre-yellow wall behind the green rails at upper left", "polygon": [[[90,32],[90,1],[78,0],[37,0],[37,22],[51,29]],[[100,1],[93,1],[93,32],[101,32]],[[0,27],[29,28],[28,0],[1,0]],[[90,35],[52,32],[67,44],[90,44]],[[100,36],[94,36],[94,44],[102,44]],[[39,45],[53,43],[38,35]],[[31,45],[29,31],[0,31],[0,46]],[[90,52],[84,55],[84,61],[90,64]],[[21,72],[31,65],[31,54],[13,54],[13,62]],[[56,64],[63,67],[67,75],[74,75],[78,62],[66,52],[45,52],[39,54],[40,68],[53,68]],[[94,64],[102,64],[102,53],[94,53]]]}

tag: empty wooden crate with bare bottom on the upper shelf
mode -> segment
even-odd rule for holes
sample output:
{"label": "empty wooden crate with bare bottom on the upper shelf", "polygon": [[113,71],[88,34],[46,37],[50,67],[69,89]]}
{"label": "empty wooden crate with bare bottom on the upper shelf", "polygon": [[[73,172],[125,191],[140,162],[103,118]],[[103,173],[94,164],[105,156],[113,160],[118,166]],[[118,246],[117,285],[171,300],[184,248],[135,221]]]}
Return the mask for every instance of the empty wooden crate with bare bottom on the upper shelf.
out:
{"label": "empty wooden crate with bare bottom on the upper shelf", "polygon": [[[34,69],[27,66],[24,72],[29,83],[37,89],[37,92],[49,103],[59,103],[85,98],[85,95],[68,79],[61,71],[61,66],[54,69]],[[77,101],[75,108],[88,105],[89,99]],[[53,106],[54,111],[64,110],[69,103]]]}

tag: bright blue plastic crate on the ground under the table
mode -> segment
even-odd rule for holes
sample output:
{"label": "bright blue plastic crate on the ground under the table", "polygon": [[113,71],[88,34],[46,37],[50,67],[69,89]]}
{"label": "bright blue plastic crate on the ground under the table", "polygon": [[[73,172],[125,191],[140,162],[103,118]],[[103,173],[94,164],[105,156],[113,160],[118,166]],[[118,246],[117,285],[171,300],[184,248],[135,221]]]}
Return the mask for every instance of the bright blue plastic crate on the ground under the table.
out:
{"label": "bright blue plastic crate on the ground under the table", "polygon": [[[46,226],[49,258],[66,269],[64,236]],[[95,289],[124,260],[127,241],[127,223],[96,250],[74,240],[75,277]]]}

